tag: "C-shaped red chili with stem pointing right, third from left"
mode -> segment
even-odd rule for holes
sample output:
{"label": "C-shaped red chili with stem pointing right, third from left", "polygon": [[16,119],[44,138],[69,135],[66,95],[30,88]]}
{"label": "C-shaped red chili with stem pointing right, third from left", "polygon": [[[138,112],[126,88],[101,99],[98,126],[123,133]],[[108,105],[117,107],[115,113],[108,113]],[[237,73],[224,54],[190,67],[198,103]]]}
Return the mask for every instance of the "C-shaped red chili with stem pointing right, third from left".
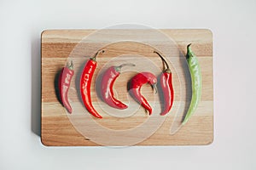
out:
{"label": "C-shaped red chili with stem pointing right, third from left", "polygon": [[128,106],[119,101],[118,99],[115,99],[113,96],[113,83],[119,77],[121,68],[123,66],[130,65],[135,66],[133,64],[123,64],[119,66],[111,66],[107,69],[107,71],[104,72],[102,76],[102,99],[111,107],[116,109],[126,109]]}

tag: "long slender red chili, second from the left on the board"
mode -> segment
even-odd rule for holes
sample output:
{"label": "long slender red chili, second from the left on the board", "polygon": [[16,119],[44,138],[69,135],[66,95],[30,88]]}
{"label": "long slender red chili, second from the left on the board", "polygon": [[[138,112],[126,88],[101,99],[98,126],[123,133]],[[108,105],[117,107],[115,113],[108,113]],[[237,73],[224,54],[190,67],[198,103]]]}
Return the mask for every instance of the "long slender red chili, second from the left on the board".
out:
{"label": "long slender red chili, second from the left on the board", "polygon": [[91,103],[90,98],[90,84],[96,70],[96,56],[100,52],[104,53],[104,50],[99,50],[93,58],[90,58],[84,65],[84,70],[82,72],[82,76],[80,78],[80,93],[82,96],[82,100],[87,111],[90,112],[91,115],[96,116],[97,118],[102,118],[101,115],[97,113],[95,108]]}

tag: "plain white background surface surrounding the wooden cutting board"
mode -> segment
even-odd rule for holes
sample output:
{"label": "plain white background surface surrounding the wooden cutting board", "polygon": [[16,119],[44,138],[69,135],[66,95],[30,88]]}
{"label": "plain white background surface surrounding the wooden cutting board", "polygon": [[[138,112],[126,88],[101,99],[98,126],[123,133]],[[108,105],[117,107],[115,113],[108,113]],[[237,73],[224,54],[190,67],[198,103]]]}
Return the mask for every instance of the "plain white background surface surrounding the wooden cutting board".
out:
{"label": "plain white background surface surrounding the wooden cutting board", "polygon": [[[0,2],[0,169],[256,169],[256,1]],[[214,39],[214,142],[207,146],[45,147],[40,33],[134,23],[208,28]]]}

